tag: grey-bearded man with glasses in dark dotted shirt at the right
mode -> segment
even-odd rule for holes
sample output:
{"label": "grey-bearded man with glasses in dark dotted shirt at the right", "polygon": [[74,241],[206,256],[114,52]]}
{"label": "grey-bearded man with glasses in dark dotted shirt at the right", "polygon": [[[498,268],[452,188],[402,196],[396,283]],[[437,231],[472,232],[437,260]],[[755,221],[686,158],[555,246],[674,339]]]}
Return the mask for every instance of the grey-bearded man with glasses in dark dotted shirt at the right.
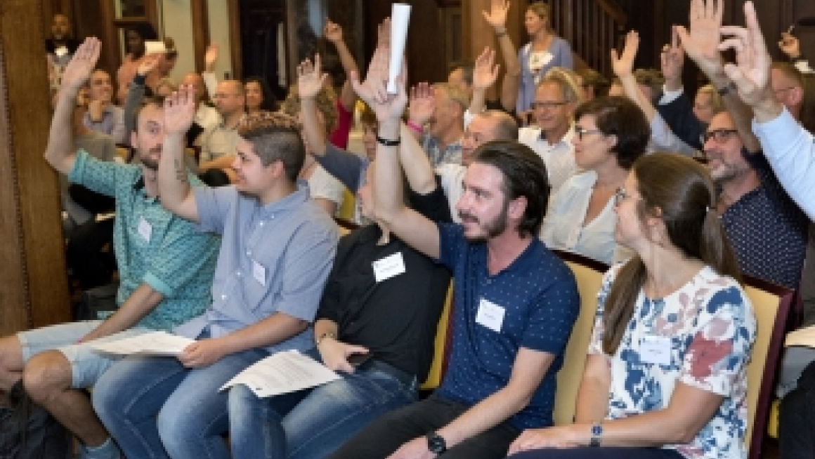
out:
{"label": "grey-bearded man with glasses in dark dotted shirt at the right", "polygon": [[720,111],[704,134],[707,168],[719,189],[716,212],[742,272],[795,289],[808,220],[791,201],[764,154],[748,152],[733,117]]}

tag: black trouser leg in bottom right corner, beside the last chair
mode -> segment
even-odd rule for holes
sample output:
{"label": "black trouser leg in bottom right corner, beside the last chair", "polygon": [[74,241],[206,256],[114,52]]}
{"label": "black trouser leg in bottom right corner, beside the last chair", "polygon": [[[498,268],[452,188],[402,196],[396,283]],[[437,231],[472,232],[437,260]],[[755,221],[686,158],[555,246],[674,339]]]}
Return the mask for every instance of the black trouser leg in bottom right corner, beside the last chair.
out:
{"label": "black trouser leg in bottom right corner, beside the last chair", "polygon": [[798,387],[781,400],[778,446],[781,459],[815,457],[815,361],[801,373]]}

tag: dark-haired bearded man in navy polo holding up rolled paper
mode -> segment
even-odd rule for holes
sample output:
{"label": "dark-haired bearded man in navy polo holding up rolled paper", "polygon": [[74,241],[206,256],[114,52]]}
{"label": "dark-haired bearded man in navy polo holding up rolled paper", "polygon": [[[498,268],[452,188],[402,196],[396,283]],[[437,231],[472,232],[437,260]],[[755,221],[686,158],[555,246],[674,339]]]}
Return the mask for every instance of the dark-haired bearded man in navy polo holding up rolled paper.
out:
{"label": "dark-haired bearded man in navy polo holding up rolled paper", "polygon": [[[373,59],[387,53],[378,49]],[[354,82],[379,120],[374,180],[390,184],[374,190],[377,218],[454,273],[452,346],[433,395],[378,418],[330,457],[505,457],[527,426],[552,425],[555,374],[579,312],[571,270],[537,238],[546,168],[516,141],[487,142],[465,173],[460,225],[405,207],[399,117],[407,96],[403,87],[377,96],[386,79],[379,67]]]}

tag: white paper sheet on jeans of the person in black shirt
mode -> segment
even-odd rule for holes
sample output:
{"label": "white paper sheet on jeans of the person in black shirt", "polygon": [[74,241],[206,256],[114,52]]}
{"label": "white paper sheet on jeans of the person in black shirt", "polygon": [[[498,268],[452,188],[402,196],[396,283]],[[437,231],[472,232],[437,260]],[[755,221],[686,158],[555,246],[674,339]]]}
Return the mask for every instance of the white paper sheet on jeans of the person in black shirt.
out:
{"label": "white paper sheet on jeans of the person in black shirt", "polygon": [[325,365],[297,351],[277,352],[243,370],[220,390],[245,384],[258,397],[301,391],[339,379]]}

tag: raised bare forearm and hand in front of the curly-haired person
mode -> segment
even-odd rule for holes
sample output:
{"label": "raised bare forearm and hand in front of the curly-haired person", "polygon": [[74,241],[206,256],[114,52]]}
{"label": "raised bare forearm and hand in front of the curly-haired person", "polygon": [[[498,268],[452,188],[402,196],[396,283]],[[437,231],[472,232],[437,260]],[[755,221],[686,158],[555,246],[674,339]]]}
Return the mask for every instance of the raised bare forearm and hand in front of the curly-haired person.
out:
{"label": "raised bare forearm and hand in front of the curly-haired person", "polygon": [[306,59],[297,66],[297,94],[300,96],[300,110],[303,124],[303,137],[306,138],[311,153],[315,156],[325,155],[326,143],[325,129],[317,116],[317,102],[315,98],[323,89],[325,79],[328,77],[322,72],[322,63],[319,54],[314,56],[314,63]]}

